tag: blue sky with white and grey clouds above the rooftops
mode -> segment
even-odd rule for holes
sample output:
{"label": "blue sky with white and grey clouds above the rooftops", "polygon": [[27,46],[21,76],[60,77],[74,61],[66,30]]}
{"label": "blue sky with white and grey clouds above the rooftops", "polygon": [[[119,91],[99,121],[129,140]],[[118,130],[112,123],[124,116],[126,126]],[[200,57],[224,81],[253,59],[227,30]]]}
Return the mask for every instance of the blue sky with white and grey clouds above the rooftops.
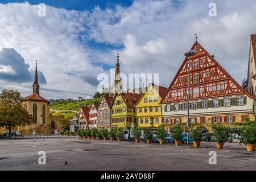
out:
{"label": "blue sky with white and grey clouds above the rooftops", "polygon": [[[209,16],[212,2],[217,16]],[[46,16],[38,15],[39,3]],[[168,87],[195,34],[241,84],[255,9],[253,0],[0,0],[0,89],[30,95],[38,60],[41,96],[91,98],[117,51],[122,73],[159,73]]]}

